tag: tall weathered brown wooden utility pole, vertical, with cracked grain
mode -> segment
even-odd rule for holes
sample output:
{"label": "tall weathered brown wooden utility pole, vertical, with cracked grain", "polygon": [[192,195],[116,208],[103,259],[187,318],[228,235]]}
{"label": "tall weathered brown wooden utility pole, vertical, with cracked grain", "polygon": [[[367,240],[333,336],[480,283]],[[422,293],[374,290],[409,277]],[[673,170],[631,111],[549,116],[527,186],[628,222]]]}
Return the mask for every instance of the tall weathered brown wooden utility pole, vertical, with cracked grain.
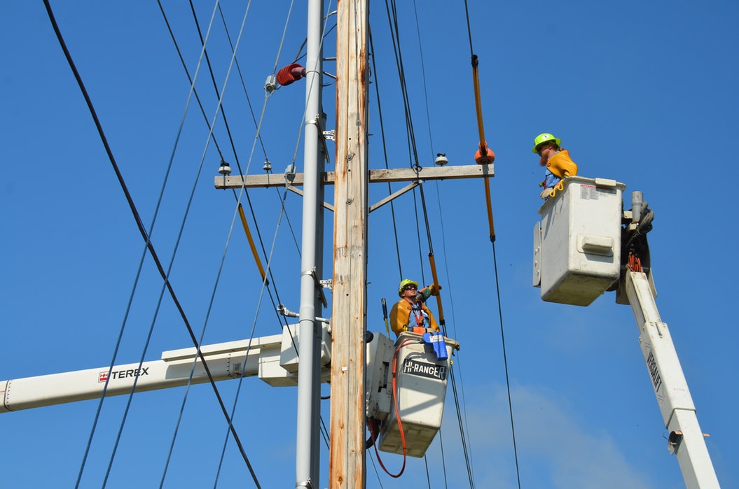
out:
{"label": "tall weathered brown wooden utility pole, vertical, with cracked grain", "polygon": [[367,0],[338,1],[330,489],[365,487]]}

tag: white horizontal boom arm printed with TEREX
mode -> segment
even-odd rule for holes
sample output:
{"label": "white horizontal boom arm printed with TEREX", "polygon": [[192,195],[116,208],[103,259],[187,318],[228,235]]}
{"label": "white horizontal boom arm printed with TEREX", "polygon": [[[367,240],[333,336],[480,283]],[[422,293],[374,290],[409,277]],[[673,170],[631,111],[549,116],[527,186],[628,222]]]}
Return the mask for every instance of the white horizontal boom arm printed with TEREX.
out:
{"label": "white horizontal boom arm printed with TEREX", "polygon": [[[295,326],[285,326],[282,335],[204,345],[200,351],[215,381],[259,375],[259,378],[272,386],[296,386],[296,351],[299,341],[295,330]],[[329,334],[329,327],[324,324],[321,366],[330,361],[327,347],[327,339],[330,343]],[[136,392],[184,386],[190,378],[193,363],[195,370],[191,383],[208,382],[208,375],[195,348],[166,351],[162,353],[161,360],[145,361],[142,364],[0,381],[0,413],[99,399],[103,395],[108,377],[106,396],[128,394],[134,380]],[[323,370],[324,376],[329,375],[325,367]]]}

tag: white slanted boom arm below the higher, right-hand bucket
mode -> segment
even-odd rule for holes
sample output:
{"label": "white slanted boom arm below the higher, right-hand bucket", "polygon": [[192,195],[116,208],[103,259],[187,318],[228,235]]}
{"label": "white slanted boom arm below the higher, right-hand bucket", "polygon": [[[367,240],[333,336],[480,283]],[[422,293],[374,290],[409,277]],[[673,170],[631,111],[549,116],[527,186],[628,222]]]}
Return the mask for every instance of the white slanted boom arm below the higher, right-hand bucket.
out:
{"label": "white slanted boom arm below the higher, right-hand bucket", "polygon": [[639,328],[641,353],[664,426],[670,431],[670,453],[677,455],[688,489],[719,488],[670,330],[660,319],[647,275],[626,273],[626,293]]}

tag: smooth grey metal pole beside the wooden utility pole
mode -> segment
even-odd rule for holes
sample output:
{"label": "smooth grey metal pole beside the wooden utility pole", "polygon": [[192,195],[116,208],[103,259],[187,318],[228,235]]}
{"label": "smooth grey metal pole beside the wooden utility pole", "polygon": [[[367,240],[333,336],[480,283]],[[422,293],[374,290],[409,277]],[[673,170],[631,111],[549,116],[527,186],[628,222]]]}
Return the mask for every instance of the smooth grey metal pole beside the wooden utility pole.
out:
{"label": "smooth grey metal pole beside the wooden utility pole", "polygon": [[[296,488],[319,487],[319,420],[321,410],[319,347],[321,327],[316,322],[318,296],[316,277],[321,277],[317,268],[316,250],[321,240],[322,221],[318,211],[323,204],[320,172],[323,170],[319,131],[321,117],[321,17],[323,0],[308,2],[307,60],[305,74],[305,141],[304,141],[304,184],[303,184],[303,235],[300,272],[300,326],[298,370],[298,413],[296,435]],[[320,232],[320,234],[319,234]],[[317,273],[314,273],[314,270]]]}

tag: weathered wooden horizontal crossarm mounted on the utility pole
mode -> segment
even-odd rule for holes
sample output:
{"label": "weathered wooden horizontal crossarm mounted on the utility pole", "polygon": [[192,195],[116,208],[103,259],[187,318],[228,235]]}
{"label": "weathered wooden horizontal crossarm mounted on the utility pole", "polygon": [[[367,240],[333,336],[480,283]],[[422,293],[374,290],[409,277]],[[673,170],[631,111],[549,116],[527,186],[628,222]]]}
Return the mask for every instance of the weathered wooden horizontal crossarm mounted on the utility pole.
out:
{"label": "weathered wooden horizontal crossarm mounted on the utility pole", "polygon": [[[423,167],[418,172],[413,168],[394,168],[391,170],[369,170],[369,183],[387,183],[394,181],[418,180],[454,180],[457,178],[486,178],[494,176],[492,164],[463,164],[459,166]],[[215,187],[218,190],[284,187],[285,178],[282,175],[232,175],[214,177]],[[296,173],[291,185],[302,187],[303,173]],[[335,172],[322,172],[321,181],[326,185],[333,185],[336,181]]]}

